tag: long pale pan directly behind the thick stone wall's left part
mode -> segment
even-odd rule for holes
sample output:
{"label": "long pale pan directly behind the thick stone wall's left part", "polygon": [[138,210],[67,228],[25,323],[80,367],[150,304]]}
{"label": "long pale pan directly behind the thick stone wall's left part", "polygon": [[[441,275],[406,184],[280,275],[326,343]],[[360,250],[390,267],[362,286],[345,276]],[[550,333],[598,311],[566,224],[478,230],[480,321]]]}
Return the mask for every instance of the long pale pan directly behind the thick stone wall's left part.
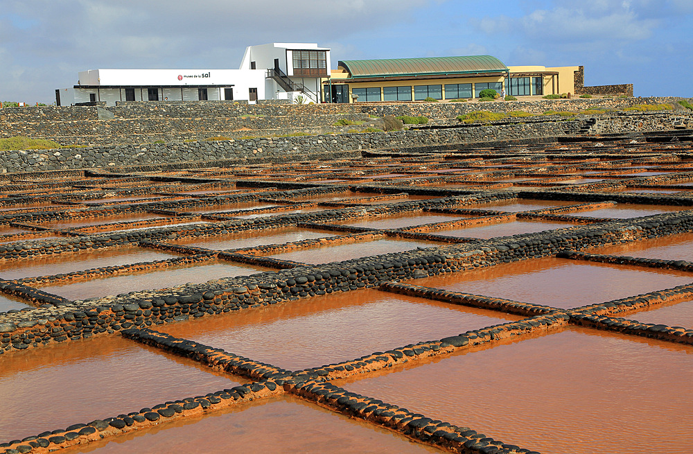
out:
{"label": "long pale pan directly behind the thick stone wall's left part", "polygon": [[247,276],[267,268],[251,265],[231,265],[227,262],[206,262],[183,267],[167,268],[150,272],[119,274],[113,277],[89,281],[40,286],[44,292],[54,293],[67,299],[86,299],[130,293],[137,290],[153,290],[178,286],[184,283],[202,283],[224,277]]}

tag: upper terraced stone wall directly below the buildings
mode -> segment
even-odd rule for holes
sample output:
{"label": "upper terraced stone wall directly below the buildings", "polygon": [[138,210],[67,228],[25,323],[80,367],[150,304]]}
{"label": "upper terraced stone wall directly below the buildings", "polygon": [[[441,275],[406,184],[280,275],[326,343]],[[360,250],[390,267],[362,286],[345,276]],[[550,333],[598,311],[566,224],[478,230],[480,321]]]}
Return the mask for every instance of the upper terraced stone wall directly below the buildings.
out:
{"label": "upper terraced stone wall directly below the buildings", "polygon": [[220,101],[122,103],[114,107],[10,107],[0,110],[0,137],[24,135],[61,145],[153,143],[225,136],[238,139],[289,132],[347,132],[359,126],[334,127],[339,119],[410,115],[454,119],[473,110],[541,114],[546,110],[579,112],[594,107],[621,109],[639,103],[674,103],[678,98],[559,99],[487,103],[356,103],[247,105]]}

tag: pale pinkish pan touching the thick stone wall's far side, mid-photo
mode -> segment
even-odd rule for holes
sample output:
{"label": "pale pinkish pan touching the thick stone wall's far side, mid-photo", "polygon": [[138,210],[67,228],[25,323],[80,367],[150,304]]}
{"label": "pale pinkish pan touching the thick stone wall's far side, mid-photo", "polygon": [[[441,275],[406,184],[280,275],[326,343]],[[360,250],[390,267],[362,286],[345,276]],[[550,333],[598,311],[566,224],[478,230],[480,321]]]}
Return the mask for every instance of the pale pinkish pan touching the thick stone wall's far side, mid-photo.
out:
{"label": "pale pinkish pan touching the thick stone wall's far side, mid-photo", "polygon": [[330,263],[359,259],[364,256],[387,254],[388,252],[409,251],[416,249],[416,247],[432,247],[439,245],[439,243],[432,243],[430,241],[382,239],[344,245],[312,247],[306,250],[294,250],[284,252],[283,254],[275,254],[272,255],[272,257],[301,263]]}

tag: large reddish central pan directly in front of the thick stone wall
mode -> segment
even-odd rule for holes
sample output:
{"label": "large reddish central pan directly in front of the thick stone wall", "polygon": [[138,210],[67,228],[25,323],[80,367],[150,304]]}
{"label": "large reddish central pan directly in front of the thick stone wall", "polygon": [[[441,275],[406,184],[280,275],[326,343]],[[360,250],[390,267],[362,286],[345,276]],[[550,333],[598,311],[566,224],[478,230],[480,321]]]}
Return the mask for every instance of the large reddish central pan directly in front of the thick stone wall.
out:
{"label": "large reddish central pan directly in front of the thick stone wall", "polygon": [[304,369],[519,318],[369,289],[159,329],[277,367]]}

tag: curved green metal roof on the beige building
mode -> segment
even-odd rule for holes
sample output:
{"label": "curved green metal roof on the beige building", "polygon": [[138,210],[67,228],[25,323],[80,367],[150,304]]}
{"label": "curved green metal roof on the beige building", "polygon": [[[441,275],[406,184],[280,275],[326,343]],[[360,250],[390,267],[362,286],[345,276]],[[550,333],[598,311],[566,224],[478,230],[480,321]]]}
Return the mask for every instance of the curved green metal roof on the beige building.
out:
{"label": "curved green metal roof on the beige building", "polygon": [[415,76],[424,74],[495,73],[508,67],[491,55],[467,57],[390,58],[387,60],[342,60],[351,78]]}

